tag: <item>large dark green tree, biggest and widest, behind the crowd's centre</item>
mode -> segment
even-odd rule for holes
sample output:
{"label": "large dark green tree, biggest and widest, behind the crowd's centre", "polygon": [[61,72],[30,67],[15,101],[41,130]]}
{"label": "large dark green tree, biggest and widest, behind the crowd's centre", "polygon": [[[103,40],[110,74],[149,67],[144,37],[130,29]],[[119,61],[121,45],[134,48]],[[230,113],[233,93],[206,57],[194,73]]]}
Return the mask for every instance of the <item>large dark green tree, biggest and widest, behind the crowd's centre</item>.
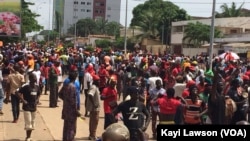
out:
{"label": "large dark green tree, biggest and widest, behind the crowd's centre", "polygon": [[[131,26],[139,27],[144,34],[139,37],[163,39],[170,43],[171,23],[188,20],[190,16],[170,1],[148,0],[133,9]],[[163,36],[163,37],[162,37]]]}

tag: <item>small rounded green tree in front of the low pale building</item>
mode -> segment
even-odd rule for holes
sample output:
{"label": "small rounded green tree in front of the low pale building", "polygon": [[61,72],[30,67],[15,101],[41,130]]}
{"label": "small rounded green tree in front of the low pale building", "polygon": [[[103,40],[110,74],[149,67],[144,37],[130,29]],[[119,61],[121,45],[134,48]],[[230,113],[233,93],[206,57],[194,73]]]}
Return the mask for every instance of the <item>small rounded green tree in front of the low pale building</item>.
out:
{"label": "small rounded green tree in front of the low pale building", "polygon": [[[190,46],[200,47],[205,42],[210,42],[210,26],[201,22],[188,23],[184,30],[183,42]],[[222,37],[222,33],[215,29],[214,37]]]}

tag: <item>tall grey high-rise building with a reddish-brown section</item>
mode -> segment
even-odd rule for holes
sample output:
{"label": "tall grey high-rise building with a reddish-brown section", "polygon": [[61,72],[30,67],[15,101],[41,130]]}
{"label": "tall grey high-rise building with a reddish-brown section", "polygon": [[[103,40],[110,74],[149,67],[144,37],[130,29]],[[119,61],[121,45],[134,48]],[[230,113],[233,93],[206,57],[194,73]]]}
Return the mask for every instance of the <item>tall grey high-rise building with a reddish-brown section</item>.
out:
{"label": "tall grey high-rise building with a reddish-brown section", "polygon": [[64,3],[63,12],[61,12],[63,17],[62,34],[67,34],[67,30],[71,26],[85,18],[104,18],[109,22],[120,23],[121,0],[55,0],[55,11],[61,8],[56,1]]}

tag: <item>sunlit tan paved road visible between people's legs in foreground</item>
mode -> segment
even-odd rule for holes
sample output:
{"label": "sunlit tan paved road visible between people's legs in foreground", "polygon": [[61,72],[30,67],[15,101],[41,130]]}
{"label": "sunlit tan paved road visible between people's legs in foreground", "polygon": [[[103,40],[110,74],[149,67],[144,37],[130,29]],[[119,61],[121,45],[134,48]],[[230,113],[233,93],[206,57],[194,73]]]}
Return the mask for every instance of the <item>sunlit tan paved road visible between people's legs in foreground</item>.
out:
{"label": "sunlit tan paved road visible between people's legs in foreground", "polygon": [[[84,95],[81,94],[81,112],[84,113]],[[62,102],[59,107],[49,108],[49,95],[41,96],[42,105],[38,106],[36,117],[36,130],[32,133],[32,138],[36,141],[61,141],[63,120],[61,119]],[[101,104],[103,105],[103,104]],[[0,141],[23,141],[26,137],[24,130],[23,113],[20,113],[18,123],[12,123],[11,104],[5,104],[3,108],[4,115],[0,116]],[[101,136],[104,131],[104,113],[101,107],[100,120],[97,129],[97,136]],[[88,140],[89,130],[88,121],[77,121],[77,141]],[[122,121],[119,121],[122,122]],[[150,137],[152,135],[151,126],[146,131]]]}

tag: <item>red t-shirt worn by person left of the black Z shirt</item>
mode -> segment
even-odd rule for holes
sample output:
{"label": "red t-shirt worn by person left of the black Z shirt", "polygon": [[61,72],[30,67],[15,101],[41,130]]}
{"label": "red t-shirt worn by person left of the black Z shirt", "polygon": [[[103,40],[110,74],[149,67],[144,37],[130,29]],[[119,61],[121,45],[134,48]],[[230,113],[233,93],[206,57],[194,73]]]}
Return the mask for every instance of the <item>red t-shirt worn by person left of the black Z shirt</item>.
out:
{"label": "red t-shirt worn by person left of the black Z shirt", "polygon": [[104,113],[111,113],[113,109],[111,109],[111,107],[109,106],[109,103],[112,101],[117,101],[116,89],[111,88],[111,87],[104,88],[102,91],[102,96],[110,96],[110,95],[114,95],[114,96],[103,100]]}

